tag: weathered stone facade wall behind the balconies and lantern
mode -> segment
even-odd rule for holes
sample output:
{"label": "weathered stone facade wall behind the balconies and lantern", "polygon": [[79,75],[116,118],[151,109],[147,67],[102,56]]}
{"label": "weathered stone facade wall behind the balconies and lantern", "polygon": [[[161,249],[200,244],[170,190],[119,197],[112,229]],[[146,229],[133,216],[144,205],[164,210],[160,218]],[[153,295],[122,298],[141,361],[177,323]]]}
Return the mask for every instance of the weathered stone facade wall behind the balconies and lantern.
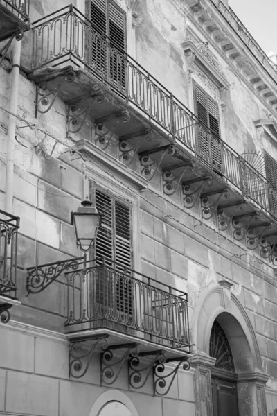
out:
{"label": "weathered stone facade wall behind the balconies and lantern", "polygon": [[[45,3],[33,3],[35,19],[54,9],[53,2]],[[59,3],[59,7],[66,3]],[[185,17],[179,18],[180,12],[173,2],[143,0],[136,11],[140,15],[139,24],[132,30],[136,33],[137,60],[164,87],[190,106],[188,89],[191,85],[181,50],[188,22]],[[26,49],[23,51],[26,58],[25,53]],[[267,139],[262,144],[258,142],[253,125],[256,119],[265,118],[267,109],[227,67],[222,57],[217,55],[217,58],[231,84],[221,97],[226,105],[222,113],[225,126],[223,138],[239,153],[249,148],[257,151],[266,148],[271,155],[277,156],[276,148]],[[0,92],[1,105],[7,108],[10,73],[4,67],[0,68],[0,84],[3,86]],[[36,123],[55,137],[65,138],[64,103],[57,99],[50,112],[39,114],[35,119],[34,101],[35,85],[22,73],[19,116]],[[7,125],[8,116],[0,110],[1,209],[5,193]],[[92,120],[86,126],[85,135],[82,132],[78,138],[85,137],[92,141],[90,127],[94,127]],[[69,220],[71,210],[78,207],[80,200],[86,196],[85,166],[80,159],[72,161],[68,153],[62,154],[66,151],[64,146],[57,146],[49,160],[37,155],[34,146],[39,144],[43,135],[39,136],[29,128],[17,131],[19,141],[15,149],[14,214],[21,217],[18,297],[22,304],[12,309],[12,320],[22,322],[23,326],[18,329],[15,328],[16,324],[1,324],[1,336],[5,337],[6,342],[1,344],[3,352],[0,354],[3,359],[0,363],[0,384],[3,385],[0,388],[0,410],[15,415],[28,413],[48,416],[59,413],[70,416],[80,411],[88,415],[93,401],[105,391],[99,385],[99,373],[94,374],[94,370],[91,370],[81,381],[69,381],[66,338],[57,333],[49,333],[48,337],[29,333],[31,329],[28,325],[64,332],[62,282],[55,281],[45,292],[26,297],[27,267],[80,254],[75,248]],[[115,136],[113,149],[117,148],[117,141]],[[50,153],[51,143],[47,146]],[[95,162],[87,162],[87,166],[95,168]],[[103,176],[109,174],[109,169],[103,172]],[[100,174],[91,179],[100,181]],[[116,180],[119,182],[115,175],[114,182]],[[258,253],[247,250],[244,241],[235,241],[231,230],[219,232],[214,217],[203,220],[199,205],[192,210],[184,209],[181,191],[178,190],[172,197],[165,197],[161,192],[160,171],[143,193],[127,182],[126,187],[139,200],[139,218],[136,220],[140,228],[134,240],[136,252],[141,252],[141,261],[136,259],[141,272],[188,292],[190,322],[193,322],[202,293],[217,285],[222,278],[229,279],[233,283],[232,293],[244,306],[256,332],[262,370],[270,377],[267,384],[268,410],[277,408],[277,298],[276,279],[271,265],[261,261]],[[9,349],[6,349],[6,345],[9,345]],[[194,348],[197,349],[197,345]],[[91,368],[97,368],[98,365],[95,362]],[[147,388],[143,393],[129,391],[126,377],[118,380],[115,388],[125,391],[140,415],[157,413],[167,416],[172,411],[177,415],[193,415],[192,377],[193,372],[180,372],[178,381],[164,399],[153,399],[148,395]],[[42,394],[38,394],[37,390],[35,392],[35,388],[40,388]]]}

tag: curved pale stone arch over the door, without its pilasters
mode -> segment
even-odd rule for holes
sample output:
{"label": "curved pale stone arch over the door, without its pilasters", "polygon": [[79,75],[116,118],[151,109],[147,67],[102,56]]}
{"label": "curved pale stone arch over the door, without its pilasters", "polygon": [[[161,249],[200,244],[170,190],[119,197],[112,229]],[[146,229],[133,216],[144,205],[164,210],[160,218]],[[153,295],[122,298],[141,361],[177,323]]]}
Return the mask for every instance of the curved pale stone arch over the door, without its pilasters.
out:
{"label": "curved pale stone arch over the door, without its pilasters", "polygon": [[251,321],[231,284],[213,286],[202,293],[193,318],[192,339],[199,354],[209,355],[211,328],[215,319],[226,333],[238,374],[262,372],[262,360]]}

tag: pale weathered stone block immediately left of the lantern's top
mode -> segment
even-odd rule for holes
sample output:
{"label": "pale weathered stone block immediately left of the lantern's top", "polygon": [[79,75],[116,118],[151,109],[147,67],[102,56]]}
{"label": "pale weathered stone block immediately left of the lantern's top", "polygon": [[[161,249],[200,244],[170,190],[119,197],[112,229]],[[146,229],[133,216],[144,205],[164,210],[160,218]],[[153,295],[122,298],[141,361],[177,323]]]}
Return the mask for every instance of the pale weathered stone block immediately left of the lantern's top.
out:
{"label": "pale weathered stone block immediately left of the lantern's top", "polygon": [[39,181],[38,203],[39,209],[52,214],[56,218],[70,223],[71,211],[75,211],[80,205],[80,201],[69,196],[68,193],[60,191],[50,184]]}

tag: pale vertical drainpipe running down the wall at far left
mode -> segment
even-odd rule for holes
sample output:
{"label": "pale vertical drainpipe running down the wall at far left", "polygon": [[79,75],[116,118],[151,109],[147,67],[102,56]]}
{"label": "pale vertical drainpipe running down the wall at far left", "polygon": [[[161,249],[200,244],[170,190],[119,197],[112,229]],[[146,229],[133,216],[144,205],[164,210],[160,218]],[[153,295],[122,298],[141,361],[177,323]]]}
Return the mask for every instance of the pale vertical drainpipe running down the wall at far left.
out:
{"label": "pale vertical drainpipe running down the wall at far left", "polygon": [[[9,111],[17,114],[17,98],[19,89],[19,64],[21,54],[21,40],[14,40],[13,60],[12,60],[12,85],[10,88],[10,105]],[[13,213],[12,195],[13,195],[13,171],[15,158],[15,123],[16,118],[9,114],[8,119],[8,150],[6,158],[6,198],[5,211]]]}

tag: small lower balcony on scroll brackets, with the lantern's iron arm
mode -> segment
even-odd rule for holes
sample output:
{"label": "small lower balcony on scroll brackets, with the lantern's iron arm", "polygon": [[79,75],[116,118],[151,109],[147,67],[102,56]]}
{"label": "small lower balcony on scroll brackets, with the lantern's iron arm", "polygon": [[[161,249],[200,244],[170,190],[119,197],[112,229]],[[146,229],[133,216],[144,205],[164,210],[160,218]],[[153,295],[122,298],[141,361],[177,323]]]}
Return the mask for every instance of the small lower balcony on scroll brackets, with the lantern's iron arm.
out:
{"label": "small lower balcony on scroll brackets, with the lantern's iron arm", "polygon": [[[188,370],[186,293],[111,260],[85,257],[28,268],[27,291],[39,293],[57,278],[71,377],[84,376],[96,354],[102,383],[113,384],[126,362],[129,386],[142,388],[154,371],[154,393],[164,395],[180,365]],[[177,363],[170,374],[163,374],[166,363]]]}

